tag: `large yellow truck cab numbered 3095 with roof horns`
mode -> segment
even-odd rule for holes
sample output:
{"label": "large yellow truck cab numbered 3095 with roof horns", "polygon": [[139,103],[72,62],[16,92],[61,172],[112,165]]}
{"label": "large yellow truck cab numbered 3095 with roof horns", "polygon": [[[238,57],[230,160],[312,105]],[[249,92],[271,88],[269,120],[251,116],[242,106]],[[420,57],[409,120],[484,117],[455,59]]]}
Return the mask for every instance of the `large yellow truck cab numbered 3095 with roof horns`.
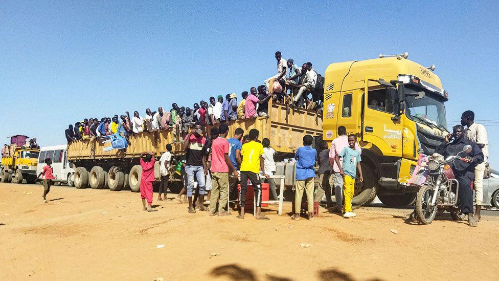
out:
{"label": "large yellow truck cab numbered 3095 with roof horns", "polygon": [[448,94],[430,69],[407,53],[326,69],[323,138],[331,142],[343,125],[362,147],[364,182],[357,183],[353,204],[376,196],[391,207],[414,202],[417,190],[406,184],[419,154],[433,154],[447,134]]}

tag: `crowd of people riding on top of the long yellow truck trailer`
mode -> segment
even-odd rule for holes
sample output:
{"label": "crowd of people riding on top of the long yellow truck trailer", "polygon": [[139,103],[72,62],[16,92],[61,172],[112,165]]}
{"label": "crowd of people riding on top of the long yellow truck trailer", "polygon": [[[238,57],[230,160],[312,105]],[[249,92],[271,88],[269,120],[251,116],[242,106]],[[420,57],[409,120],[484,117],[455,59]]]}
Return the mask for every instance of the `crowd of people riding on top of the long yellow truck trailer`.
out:
{"label": "crowd of people riding on top of the long yellow truck trailer", "polygon": [[[195,122],[206,126],[268,117],[270,99],[286,104],[288,109],[289,106],[306,107],[321,115],[324,78],[312,68],[312,63],[303,63],[300,69],[297,64],[294,64],[293,59],[287,61],[283,59],[281,52],[276,52],[276,59],[278,74],[266,79],[264,85],[251,87],[250,92],[242,92],[239,101],[237,94],[231,93],[225,97],[222,95],[216,98],[210,97],[209,102],[201,100],[199,103],[194,103],[192,107],[178,106],[177,103],[173,103],[169,112],[160,106],[157,111],[146,109],[145,115],[135,111],[132,117],[125,112],[121,116],[115,115],[112,118],[85,118],[74,125],[70,124],[65,129],[64,135],[67,142],[71,143],[112,134],[128,138],[128,136],[143,132],[152,133],[171,129],[175,142],[182,142]],[[271,79],[274,79],[273,85],[270,85]]]}

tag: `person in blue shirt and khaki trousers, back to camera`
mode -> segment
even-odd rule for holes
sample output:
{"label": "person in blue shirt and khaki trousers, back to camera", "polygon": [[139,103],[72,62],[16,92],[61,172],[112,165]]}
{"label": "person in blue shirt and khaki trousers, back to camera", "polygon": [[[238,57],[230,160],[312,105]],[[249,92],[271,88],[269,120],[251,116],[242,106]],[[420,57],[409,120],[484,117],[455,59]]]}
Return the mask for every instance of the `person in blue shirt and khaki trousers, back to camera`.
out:
{"label": "person in blue shirt and khaki trousers, back to camera", "polygon": [[300,207],[302,205],[303,190],[307,194],[308,220],[313,220],[313,183],[315,179],[315,159],[317,150],[311,147],[313,138],[310,135],[303,137],[303,147],[298,148],[294,158],[296,165],[296,193],[294,195],[294,214],[291,219],[300,220]]}

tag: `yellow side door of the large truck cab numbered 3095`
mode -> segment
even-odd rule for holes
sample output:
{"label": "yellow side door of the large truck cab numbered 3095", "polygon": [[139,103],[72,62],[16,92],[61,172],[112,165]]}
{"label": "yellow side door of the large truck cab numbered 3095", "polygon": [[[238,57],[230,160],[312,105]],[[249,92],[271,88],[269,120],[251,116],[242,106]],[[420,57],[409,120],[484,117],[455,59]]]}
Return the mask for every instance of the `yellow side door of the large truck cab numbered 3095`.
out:
{"label": "yellow side door of the large truck cab numbered 3095", "polygon": [[377,82],[366,79],[363,97],[362,140],[378,147],[384,156],[402,154],[402,124],[395,120],[396,91],[389,91]]}

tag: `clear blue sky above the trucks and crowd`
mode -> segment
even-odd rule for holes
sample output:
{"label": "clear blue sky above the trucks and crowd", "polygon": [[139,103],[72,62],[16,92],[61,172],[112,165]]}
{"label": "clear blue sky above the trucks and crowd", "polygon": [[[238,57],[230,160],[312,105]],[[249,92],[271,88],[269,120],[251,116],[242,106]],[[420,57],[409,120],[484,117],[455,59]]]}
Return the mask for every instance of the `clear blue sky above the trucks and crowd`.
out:
{"label": "clear blue sky above the trucks and crowd", "polygon": [[[448,121],[465,110],[497,120],[498,12],[458,1],[4,1],[0,138],[62,144],[84,117],[240,94],[275,74],[277,50],[322,74],[331,62],[408,51],[437,66]],[[493,164],[498,128],[487,126]]]}

